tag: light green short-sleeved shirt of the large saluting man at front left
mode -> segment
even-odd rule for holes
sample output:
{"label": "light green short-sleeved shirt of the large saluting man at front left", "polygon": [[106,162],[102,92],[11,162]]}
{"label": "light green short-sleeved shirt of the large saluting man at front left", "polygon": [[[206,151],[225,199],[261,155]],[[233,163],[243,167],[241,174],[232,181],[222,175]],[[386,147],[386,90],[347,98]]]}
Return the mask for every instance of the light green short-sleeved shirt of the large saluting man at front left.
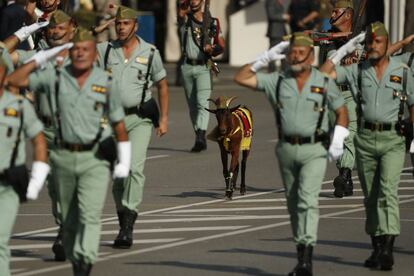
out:
{"label": "light green short-sleeved shirt of the large saluting man at front left", "polygon": [[[114,123],[123,119],[124,111],[119,97],[120,87],[113,79],[108,88],[107,72],[94,66],[83,87],[79,88],[78,82],[70,74],[70,65],[59,70],[58,105],[65,142],[90,144],[94,141],[100,128],[101,118],[104,117],[108,92],[109,121]],[[30,89],[50,94],[54,109],[56,108],[55,82],[54,69],[39,70],[29,76]]]}

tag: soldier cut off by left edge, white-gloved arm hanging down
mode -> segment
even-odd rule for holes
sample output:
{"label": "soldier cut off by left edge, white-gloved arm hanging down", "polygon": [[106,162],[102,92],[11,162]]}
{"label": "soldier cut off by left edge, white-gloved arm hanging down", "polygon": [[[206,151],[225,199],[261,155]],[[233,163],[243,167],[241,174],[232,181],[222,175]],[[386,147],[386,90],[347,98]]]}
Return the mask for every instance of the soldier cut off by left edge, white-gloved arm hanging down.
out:
{"label": "soldier cut off by left edge, white-gloved arm hanging down", "polygon": [[[26,99],[3,88],[7,71],[6,62],[0,57],[0,275],[3,276],[10,275],[7,244],[17,216],[19,199],[37,199],[49,172],[42,123]],[[27,191],[19,189],[28,181],[24,165],[26,138],[31,139],[35,160]]]}

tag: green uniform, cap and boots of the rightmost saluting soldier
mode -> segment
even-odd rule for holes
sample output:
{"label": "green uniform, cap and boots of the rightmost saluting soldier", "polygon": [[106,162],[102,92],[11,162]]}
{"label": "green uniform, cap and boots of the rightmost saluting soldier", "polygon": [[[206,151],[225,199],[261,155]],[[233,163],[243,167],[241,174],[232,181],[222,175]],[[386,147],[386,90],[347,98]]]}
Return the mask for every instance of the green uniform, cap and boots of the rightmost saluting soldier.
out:
{"label": "green uniform, cap and boots of the rightmost saluting soldier", "polygon": [[[388,35],[382,24],[374,23],[372,26],[377,30],[376,33],[373,31],[375,35]],[[406,74],[404,70],[407,70]],[[379,243],[381,250],[392,252],[394,237],[400,234],[398,185],[404,165],[405,138],[396,130],[404,82],[406,102],[408,106],[414,104],[414,78],[408,70],[393,57],[389,58],[381,80],[377,79],[374,66],[369,61],[361,66],[336,67],[337,80],[348,82],[356,97],[360,98],[361,115],[355,138],[356,163],[365,197],[365,231],[372,238],[374,250]],[[377,266],[377,260],[371,257],[365,266]],[[388,261],[381,266],[386,270],[392,268]]]}

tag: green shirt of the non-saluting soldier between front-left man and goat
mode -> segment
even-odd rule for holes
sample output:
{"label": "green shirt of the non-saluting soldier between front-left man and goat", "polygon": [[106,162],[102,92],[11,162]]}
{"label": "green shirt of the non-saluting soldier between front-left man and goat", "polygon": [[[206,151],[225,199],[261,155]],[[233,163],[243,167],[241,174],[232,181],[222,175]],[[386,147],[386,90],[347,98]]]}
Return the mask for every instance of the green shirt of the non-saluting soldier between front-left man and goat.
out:
{"label": "green shirt of the non-saluting soldier between front-left man and goat", "polygon": [[[111,43],[112,48],[109,52],[107,69],[112,72],[114,79],[118,80],[121,91],[122,105],[126,108],[137,106],[141,103],[145,76],[148,69],[148,57],[152,46],[140,37],[139,46],[134,50],[129,60],[125,59],[122,47],[119,41],[102,42],[97,45],[99,65],[104,68],[104,57]],[[154,82],[164,79],[167,73],[162,64],[161,56],[158,50],[155,50],[152,60],[148,88]],[[145,101],[151,98],[151,91],[146,92]]]}

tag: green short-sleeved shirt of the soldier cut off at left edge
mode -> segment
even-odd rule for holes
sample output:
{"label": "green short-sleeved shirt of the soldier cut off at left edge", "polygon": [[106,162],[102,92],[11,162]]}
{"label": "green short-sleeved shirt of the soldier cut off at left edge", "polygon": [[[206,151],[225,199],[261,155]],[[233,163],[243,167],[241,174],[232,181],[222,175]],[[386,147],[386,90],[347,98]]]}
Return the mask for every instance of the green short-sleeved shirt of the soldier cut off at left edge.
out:
{"label": "green short-sleeved shirt of the soldier cut off at left edge", "polygon": [[[20,128],[21,109],[23,110],[23,128],[16,165],[25,163],[25,139],[34,138],[43,130],[42,123],[36,117],[33,106],[29,101],[7,90],[3,91],[3,95],[0,97],[0,172],[10,167],[13,147]],[[19,104],[20,100],[22,101],[21,105]]]}

